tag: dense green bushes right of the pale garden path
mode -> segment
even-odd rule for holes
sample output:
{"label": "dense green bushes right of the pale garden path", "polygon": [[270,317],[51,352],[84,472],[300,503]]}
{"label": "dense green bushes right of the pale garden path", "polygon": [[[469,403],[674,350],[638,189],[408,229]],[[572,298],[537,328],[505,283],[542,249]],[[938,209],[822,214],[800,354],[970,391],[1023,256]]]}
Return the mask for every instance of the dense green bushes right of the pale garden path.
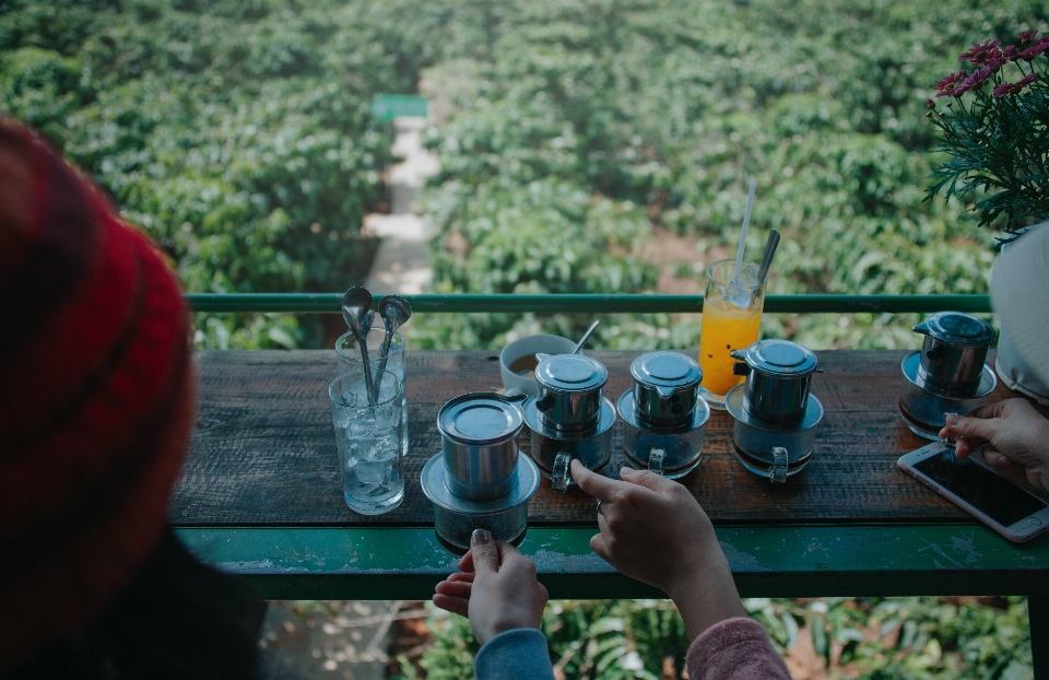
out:
{"label": "dense green bushes right of the pale garden path", "polygon": [[[600,278],[549,275],[528,263],[556,259],[565,247],[538,237],[547,228],[539,212],[531,226],[508,230],[521,244],[545,244],[528,261],[487,246],[507,234],[471,226],[479,213],[520,204],[535,183],[552,195],[559,186],[594,204],[636,207],[635,245],[662,225],[728,248],[754,178],[749,253],[757,257],[768,227],[785,236],[773,293],[987,291],[991,239],[975,228],[971,206],[922,203],[942,160],[928,153],[936,141],[924,103],[960,49],[986,34],[1042,26],[1042,4],[521,1],[459,19],[458,42],[425,72],[431,90],[455,105],[429,137],[444,168],[428,204],[444,237],[438,290],[490,290],[479,283],[492,271],[504,292],[604,290]],[[593,228],[591,218],[574,219]],[[636,254],[609,251],[623,262]],[[580,273],[589,266],[573,265]],[[626,279],[618,290],[652,291],[652,280]],[[590,319],[429,321],[421,338],[429,345],[497,348],[538,329],[571,336]],[[912,344],[914,321],[767,317],[764,331],[816,349],[891,348]],[[697,335],[694,317],[617,315],[592,342],[680,348]]]}

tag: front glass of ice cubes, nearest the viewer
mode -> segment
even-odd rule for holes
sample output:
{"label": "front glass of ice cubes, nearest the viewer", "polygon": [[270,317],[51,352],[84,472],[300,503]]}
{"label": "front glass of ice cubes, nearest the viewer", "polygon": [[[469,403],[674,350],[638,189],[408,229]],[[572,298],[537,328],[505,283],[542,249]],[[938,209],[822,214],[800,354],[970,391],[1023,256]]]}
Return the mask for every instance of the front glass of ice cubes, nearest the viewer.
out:
{"label": "front glass of ice cubes, nearest the viewer", "polygon": [[342,492],[350,509],[362,515],[388,513],[404,499],[404,385],[374,364],[373,374],[378,386],[374,405],[368,403],[360,368],[328,386]]}

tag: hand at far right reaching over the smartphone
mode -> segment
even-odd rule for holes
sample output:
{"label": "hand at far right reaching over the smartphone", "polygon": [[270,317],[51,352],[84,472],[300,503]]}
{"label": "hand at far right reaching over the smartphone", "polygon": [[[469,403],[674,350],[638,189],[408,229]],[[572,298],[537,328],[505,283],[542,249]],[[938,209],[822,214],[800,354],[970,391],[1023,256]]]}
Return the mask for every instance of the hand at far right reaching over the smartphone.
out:
{"label": "hand at far right reaching over the smartphone", "polygon": [[1049,489],[1049,420],[1026,399],[1006,399],[951,414],[940,437],[955,441],[958,458],[983,447],[983,460],[1005,477],[1023,477],[1039,489]]}

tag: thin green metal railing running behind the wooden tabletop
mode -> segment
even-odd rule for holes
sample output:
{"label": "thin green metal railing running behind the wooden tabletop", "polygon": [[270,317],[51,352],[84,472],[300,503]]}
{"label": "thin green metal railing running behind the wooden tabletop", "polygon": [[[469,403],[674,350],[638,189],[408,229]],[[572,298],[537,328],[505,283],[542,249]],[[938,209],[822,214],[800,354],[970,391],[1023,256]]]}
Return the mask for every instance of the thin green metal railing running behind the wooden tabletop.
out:
{"label": "thin green metal railing running behind the wooden tabletop", "polygon": [[[380,295],[376,295],[376,301]],[[702,295],[405,295],[415,312],[521,314],[698,313]],[[339,314],[341,293],[188,293],[193,312]],[[769,295],[766,313],[989,313],[988,295]]]}

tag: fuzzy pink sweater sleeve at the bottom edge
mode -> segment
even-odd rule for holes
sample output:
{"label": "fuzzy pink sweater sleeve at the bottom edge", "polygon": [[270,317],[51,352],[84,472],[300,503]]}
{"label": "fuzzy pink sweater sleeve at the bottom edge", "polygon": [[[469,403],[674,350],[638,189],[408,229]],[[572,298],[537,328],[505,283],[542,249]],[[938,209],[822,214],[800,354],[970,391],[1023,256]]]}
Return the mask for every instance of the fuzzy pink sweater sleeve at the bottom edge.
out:
{"label": "fuzzy pink sweater sleeve at the bottom edge", "polygon": [[689,680],[790,680],[765,629],[751,619],[729,619],[703,632],[688,648]]}

